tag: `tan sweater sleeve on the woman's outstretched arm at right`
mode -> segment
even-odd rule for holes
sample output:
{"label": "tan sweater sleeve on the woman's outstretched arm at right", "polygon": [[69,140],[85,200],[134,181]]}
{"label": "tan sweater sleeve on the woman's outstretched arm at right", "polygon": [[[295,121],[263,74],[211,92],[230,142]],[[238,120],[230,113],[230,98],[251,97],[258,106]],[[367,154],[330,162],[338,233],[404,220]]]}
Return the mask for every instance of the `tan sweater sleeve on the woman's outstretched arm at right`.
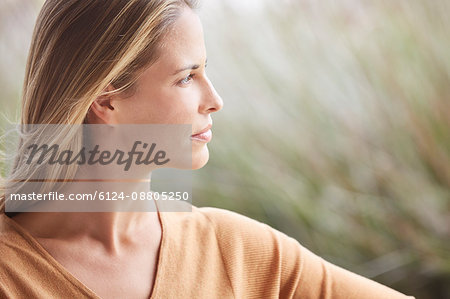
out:
{"label": "tan sweater sleeve on the woman's outstretched arm at right", "polygon": [[264,223],[200,210],[216,230],[236,298],[414,298],[333,265]]}

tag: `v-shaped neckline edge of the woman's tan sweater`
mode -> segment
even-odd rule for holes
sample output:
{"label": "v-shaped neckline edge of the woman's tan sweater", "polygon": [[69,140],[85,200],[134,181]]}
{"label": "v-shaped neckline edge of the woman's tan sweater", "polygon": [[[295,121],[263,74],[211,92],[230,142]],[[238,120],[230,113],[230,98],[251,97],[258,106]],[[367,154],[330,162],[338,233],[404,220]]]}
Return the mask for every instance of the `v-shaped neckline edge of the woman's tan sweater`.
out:
{"label": "v-shaped neckline edge of the woman's tan sweater", "polygon": [[[154,278],[153,287],[148,299],[157,298],[157,294],[159,291],[159,285],[162,283],[163,279],[163,271],[164,271],[164,262],[166,261],[165,256],[165,247],[167,243],[167,226],[165,223],[165,219],[163,214],[158,207],[158,204],[155,201],[156,211],[158,213],[159,222],[161,223],[161,241],[158,250],[158,264],[156,265],[156,273]],[[78,278],[76,278],[69,270],[67,270],[60,262],[58,262],[42,245],[39,241],[36,240],[35,237],[31,235],[24,227],[22,227],[19,223],[14,221],[14,219],[8,217],[5,213],[2,212],[2,216],[6,218],[8,224],[12,225],[16,231],[18,231],[29,243],[36,249],[45,260],[50,263],[55,269],[57,269],[68,281],[70,281],[74,286],[78,287],[83,293],[88,295],[89,297],[93,297],[96,299],[103,299],[99,295],[97,295],[92,289],[90,289],[87,285],[82,283]]]}

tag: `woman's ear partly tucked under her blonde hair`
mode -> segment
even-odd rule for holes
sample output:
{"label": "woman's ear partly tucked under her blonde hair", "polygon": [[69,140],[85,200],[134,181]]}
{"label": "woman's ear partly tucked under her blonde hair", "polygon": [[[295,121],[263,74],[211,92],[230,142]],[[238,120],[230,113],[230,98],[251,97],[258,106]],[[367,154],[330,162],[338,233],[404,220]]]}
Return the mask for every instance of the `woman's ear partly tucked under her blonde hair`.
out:
{"label": "woman's ear partly tucked under her blonde hair", "polygon": [[[111,92],[114,87],[110,84],[104,90],[104,93]],[[87,122],[90,124],[115,124],[116,121],[116,111],[114,109],[114,95],[106,94],[100,95],[91,104],[89,111],[87,113]]]}

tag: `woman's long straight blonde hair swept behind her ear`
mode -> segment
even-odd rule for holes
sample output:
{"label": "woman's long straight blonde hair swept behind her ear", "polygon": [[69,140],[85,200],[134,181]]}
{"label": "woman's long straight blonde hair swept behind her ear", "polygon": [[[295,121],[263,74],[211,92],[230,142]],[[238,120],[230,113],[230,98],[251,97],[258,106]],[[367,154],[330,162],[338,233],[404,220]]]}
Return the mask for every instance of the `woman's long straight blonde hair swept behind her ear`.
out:
{"label": "woman's long straight blonde hair swept behind her ear", "polygon": [[[140,72],[158,59],[164,34],[183,9],[196,7],[194,0],[47,0],[28,55],[21,124],[82,124],[108,85],[115,90],[107,94],[132,93]],[[53,141],[65,143],[74,134],[60,132]],[[26,138],[21,134],[21,144]],[[30,171],[22,149],[5,181]],[[65,177],[74,172],[66,170]],[[3,211],[7,184],[2,182]]]}

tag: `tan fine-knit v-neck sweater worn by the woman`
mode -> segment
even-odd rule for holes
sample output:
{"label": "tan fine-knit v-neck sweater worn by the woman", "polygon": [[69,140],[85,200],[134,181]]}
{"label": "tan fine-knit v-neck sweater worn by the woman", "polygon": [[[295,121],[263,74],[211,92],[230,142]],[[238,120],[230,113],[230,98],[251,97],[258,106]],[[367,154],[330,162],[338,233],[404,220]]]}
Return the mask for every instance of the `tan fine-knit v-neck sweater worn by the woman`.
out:
{"label": "tan fine-knit v-neck sweater worn by the woman", "polygon": [[[151,298],[408,298],[231,211],[193,206],[159,216]],[[0,298],[99,298],[4,213],[0,256]]]}

